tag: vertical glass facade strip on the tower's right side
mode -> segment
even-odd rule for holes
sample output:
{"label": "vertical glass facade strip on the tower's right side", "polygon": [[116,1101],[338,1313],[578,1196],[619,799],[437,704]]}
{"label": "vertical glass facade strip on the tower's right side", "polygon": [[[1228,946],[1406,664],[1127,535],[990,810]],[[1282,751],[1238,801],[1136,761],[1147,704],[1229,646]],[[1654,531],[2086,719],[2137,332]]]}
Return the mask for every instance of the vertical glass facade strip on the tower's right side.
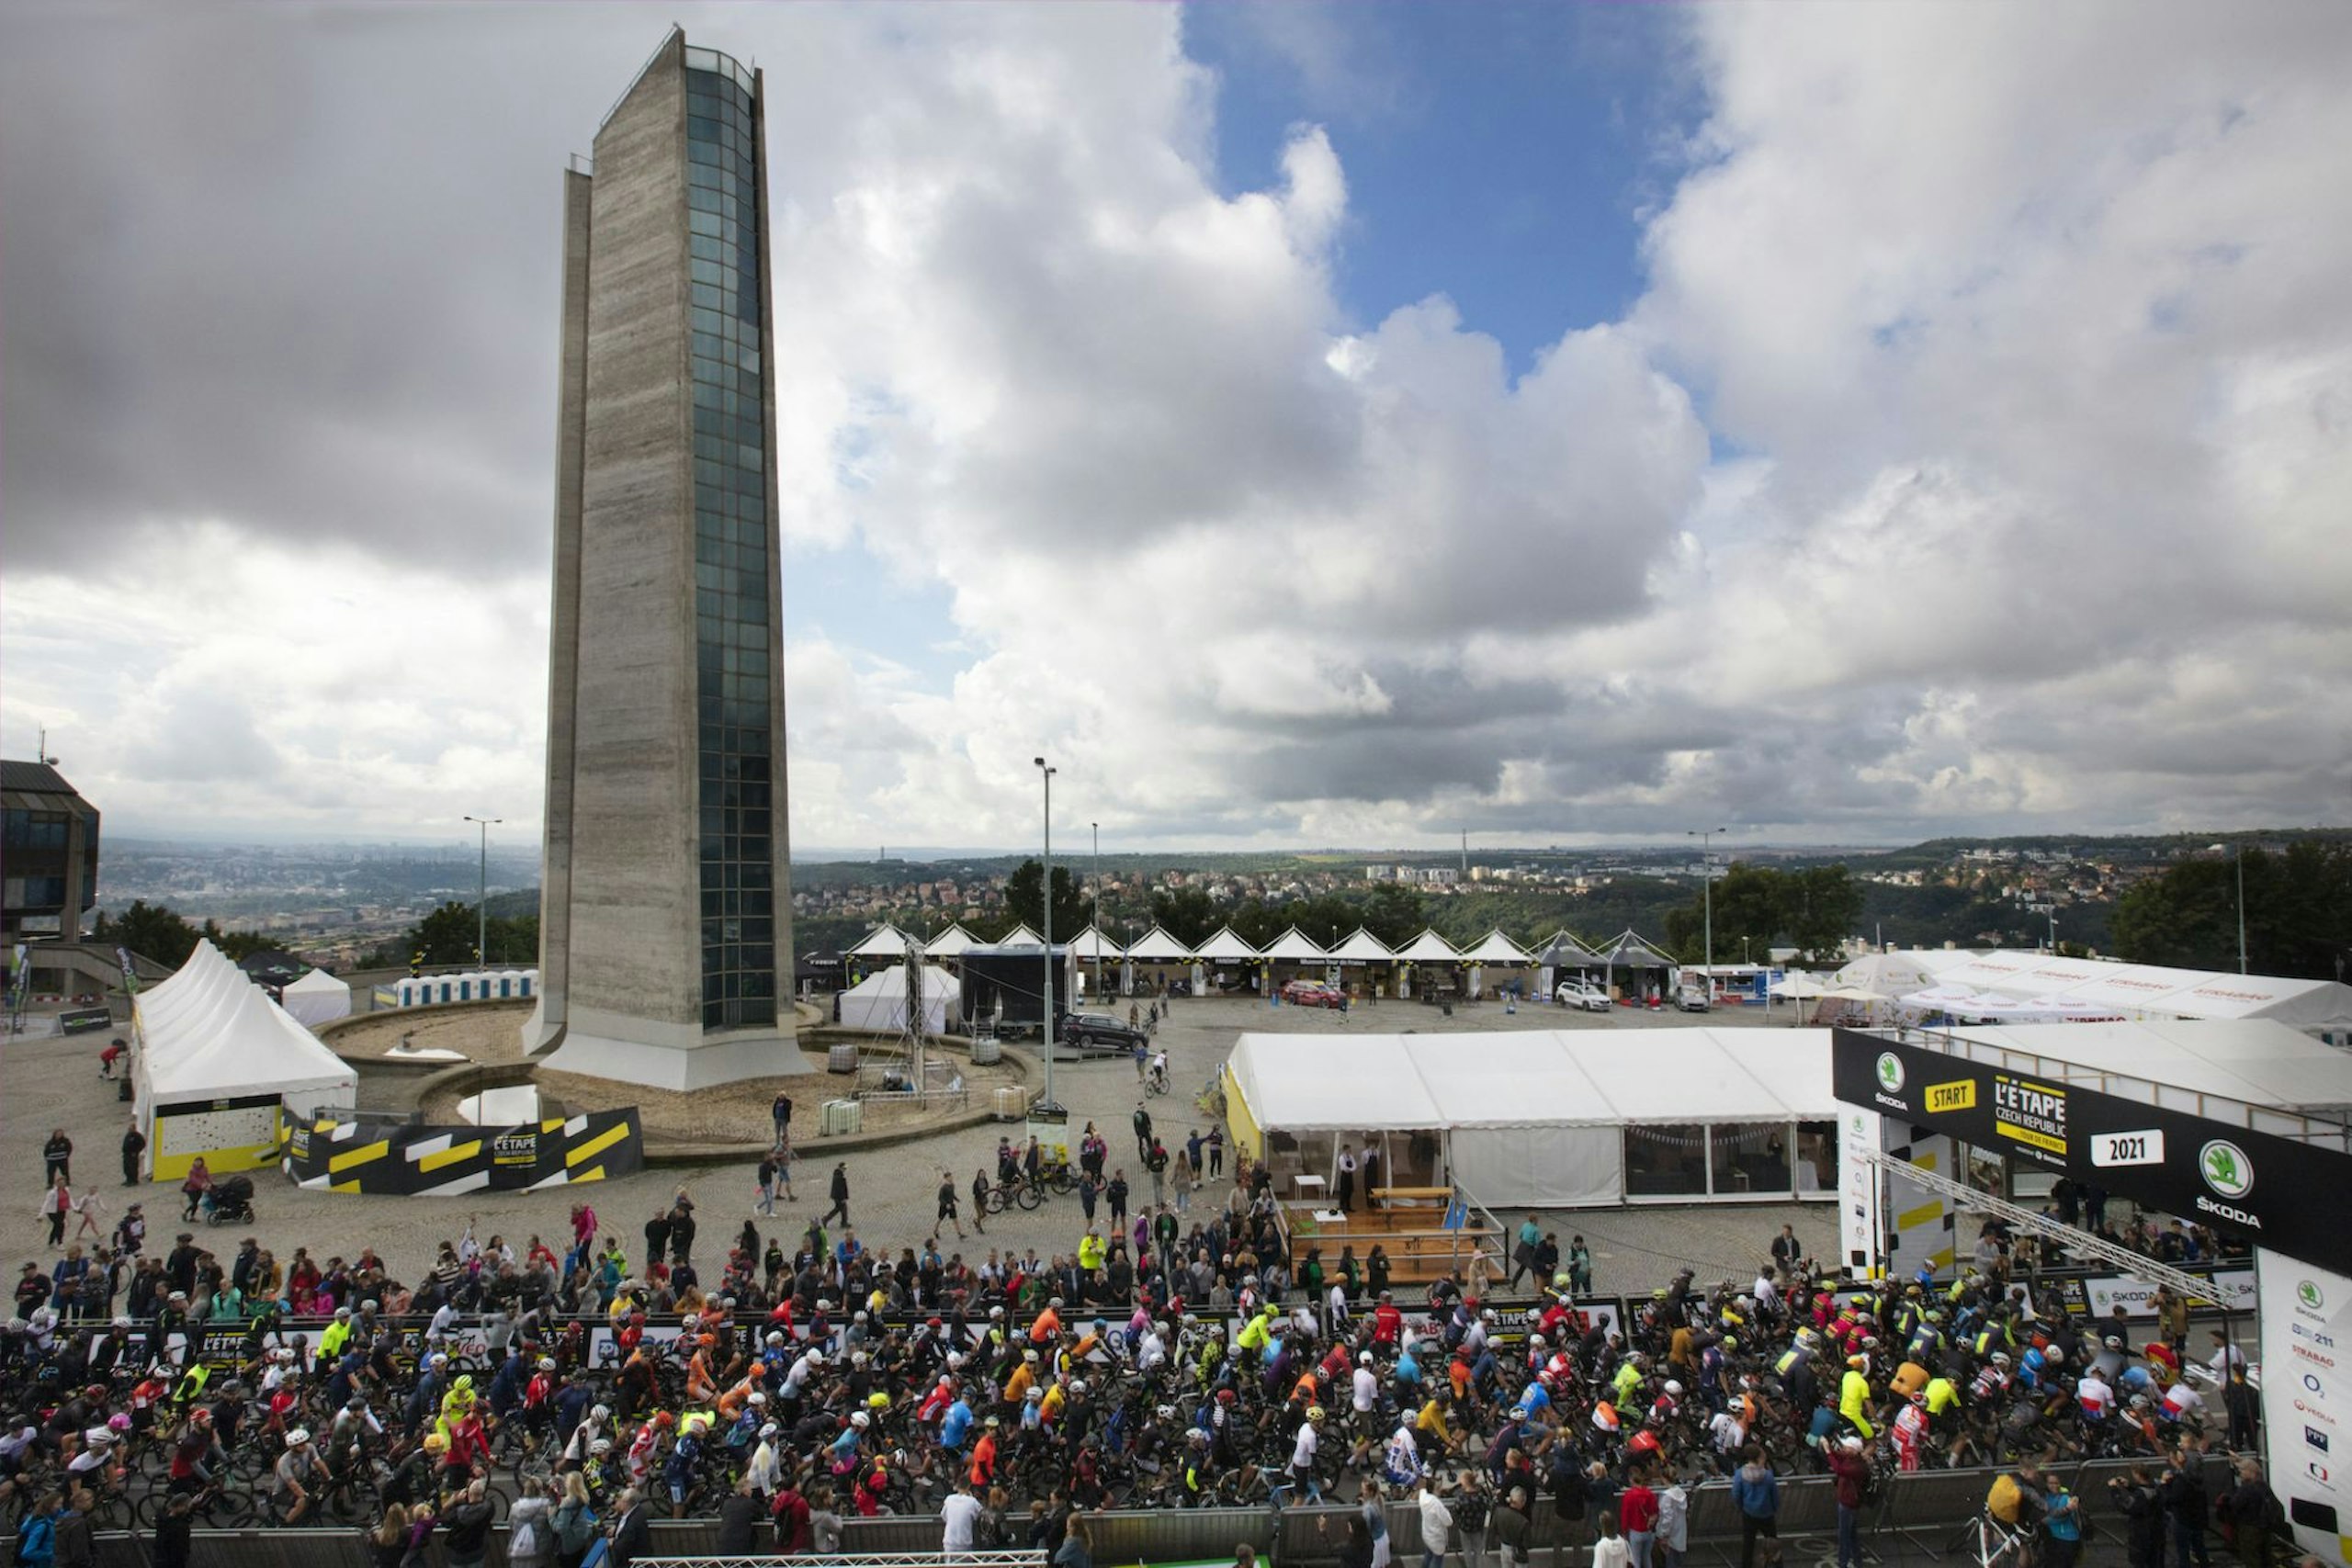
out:
{"label": "vertical glass facade strip on the tower's right side", "polygon": [[703,1027],[776,1023],[767,409],[753,75],[687,49]]}

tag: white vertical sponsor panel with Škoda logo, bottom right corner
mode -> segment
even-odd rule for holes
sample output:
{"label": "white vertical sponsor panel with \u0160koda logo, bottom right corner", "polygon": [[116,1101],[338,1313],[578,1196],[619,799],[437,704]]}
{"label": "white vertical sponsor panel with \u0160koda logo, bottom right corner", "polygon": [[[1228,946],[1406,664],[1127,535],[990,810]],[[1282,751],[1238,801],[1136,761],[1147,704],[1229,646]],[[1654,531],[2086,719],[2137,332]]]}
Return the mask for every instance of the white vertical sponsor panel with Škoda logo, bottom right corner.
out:
{"label": "white vertical sponsor panel with \u0160koda logo, bottom right corner", "polygon": [[2296,1544],[2352,1563],[2352,1279],[2263,1248],[2270,1490]]}

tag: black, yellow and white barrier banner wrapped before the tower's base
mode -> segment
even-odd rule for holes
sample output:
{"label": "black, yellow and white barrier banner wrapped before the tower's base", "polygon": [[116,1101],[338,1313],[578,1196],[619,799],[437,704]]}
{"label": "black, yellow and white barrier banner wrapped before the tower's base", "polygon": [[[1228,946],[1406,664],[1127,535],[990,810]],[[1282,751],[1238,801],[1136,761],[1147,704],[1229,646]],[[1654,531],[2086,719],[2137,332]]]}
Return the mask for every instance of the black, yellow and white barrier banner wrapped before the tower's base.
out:
{"label": "black, yellow and white barrier banner wrapped before the tower's base", "polygon": [[644,1168],[644,1131],[635,1105],[520,1126],[320,1119],[289,1133],[287,1161],[294,1180],[325,1192],[536,1192]]}

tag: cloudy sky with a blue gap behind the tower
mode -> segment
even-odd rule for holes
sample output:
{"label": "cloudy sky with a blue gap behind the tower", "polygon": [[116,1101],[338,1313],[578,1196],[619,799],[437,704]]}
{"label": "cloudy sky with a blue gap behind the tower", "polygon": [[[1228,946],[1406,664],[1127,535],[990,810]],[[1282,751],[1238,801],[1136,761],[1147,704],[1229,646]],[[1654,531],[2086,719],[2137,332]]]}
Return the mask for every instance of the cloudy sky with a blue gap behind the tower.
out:
{"label": "cloudy sky with a blue gap behind the tower", "polygon": [[560,169],[767,71],[793,839],[2352,820],[2352,7],[12,5],[0,745],[543,792]]}

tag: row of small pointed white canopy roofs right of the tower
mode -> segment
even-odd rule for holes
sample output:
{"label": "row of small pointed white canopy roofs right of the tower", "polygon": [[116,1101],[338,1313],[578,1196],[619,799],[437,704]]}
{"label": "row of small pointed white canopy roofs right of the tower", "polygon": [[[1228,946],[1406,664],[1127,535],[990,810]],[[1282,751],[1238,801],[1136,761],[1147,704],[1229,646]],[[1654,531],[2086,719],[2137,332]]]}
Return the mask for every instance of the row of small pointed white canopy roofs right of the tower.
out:
{"label": "row of small pointed white canopy roofs right of the tower", "polygon": [[[1021,926],[993,945],[1035,947],[1044,938],[1035,931]],[[1625,931],[1606,947],[1585,947],[1566,931],[1559,931],[1548,943],[1541,943],[1536,952],[1529,952],[1519,943],[1510,940],[1503,931],[1489,931],[1468,947],[1456,947],[1446,938],[1437,936],[1437,931],[1423,931],[1402,947],[1390,947],[1364,929],[1357,929],[1341,943],[1324,945],[1298,926],[1291,926],[1265,947],[1251,947],[1235,933],[1232,926],[1218,926],[1200,943],[1181,943],[1169,936],[1164,926],[1152,926],[1134,943],[1117,943],[1094,926],[1058,940],[1065,943],[1082,964],[1096,957],[1103,961],[1127,959],[1134,964],[1484,964],[1524,969],[1538,964],[1545,969],[1670,969],[1675,964],[1675,959],[1661,954],[1635,931]],[[908,933],[898,926],[875,926],[856,947],[849,950],[849,957],[884,961],[906,959],[908,947],[917,943],[927,959],[955,959],[971,947],[990,945],[964,931],[962,924],[953,924],[931,938],[908,938]]]}

